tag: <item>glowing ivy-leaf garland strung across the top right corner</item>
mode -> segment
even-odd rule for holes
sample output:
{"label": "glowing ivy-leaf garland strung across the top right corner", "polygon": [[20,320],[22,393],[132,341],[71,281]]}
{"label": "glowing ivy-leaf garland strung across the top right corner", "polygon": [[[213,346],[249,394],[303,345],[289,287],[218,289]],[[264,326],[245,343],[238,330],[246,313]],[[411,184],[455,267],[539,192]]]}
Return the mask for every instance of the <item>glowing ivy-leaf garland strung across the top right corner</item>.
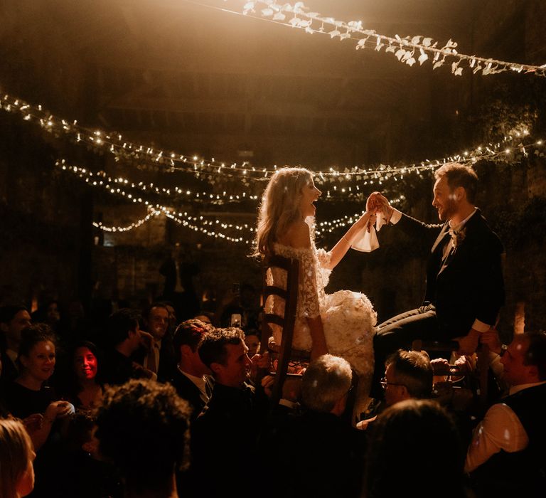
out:
{"label": "glowing ivy-leaf garland strung across the top right corner", "polygon": [[[259,10],[259,14],[257,10]],[[239,14],[234,11],[229,12]],[[451,63],[451,73],[456,76],[462,75],[464,65],[474,74],[491,75],[510,70],[516,73],[546,76],[546,64],[538,66],[511,63],[505,60],[466,55],[459,53],[456,50],[457,43],[451,40],[443,47],[439,47],[437,41],[426,36],[400,38],[396,35],[395,38],[392,38],[372,29],[364,29],[362,21],[345,22],[338,21],[331,16],[321,16],[318,12],[309,11],[302,1],[292,5],[277,4],[275,0],[245,0],[242,14],[260,19],[266,18],[267,21],[299,28],[310,34],[324,33],[330,38],[338,38],[341,41],[350,38],[357,42],[357,50],[368,46],[380,52],[384,48],[385,53],[392,53],[401,63],[410,66],[417,62],[422,65],[427,60],[431,60],[432,68],[437,69],[444,63]]]}

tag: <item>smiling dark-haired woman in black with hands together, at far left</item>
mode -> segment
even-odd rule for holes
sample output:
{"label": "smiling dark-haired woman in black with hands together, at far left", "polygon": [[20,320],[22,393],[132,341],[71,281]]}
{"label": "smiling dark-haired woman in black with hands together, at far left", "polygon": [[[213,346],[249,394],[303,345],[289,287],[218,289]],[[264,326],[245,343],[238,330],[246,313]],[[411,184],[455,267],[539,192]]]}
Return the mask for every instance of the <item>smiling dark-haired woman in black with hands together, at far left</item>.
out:
{"label": "smiling dark-haired woman in black with hands together, at far left", "polygon": [[47,325],[36,324],[23,331],[17,361],[20,373],[6,385],[4,401],[17,418],[43,414],[40,428],[32,433],[38,450],[48,439],[55,420],[73,412],[73,406],[58,401],[53,389],[46,385],[55,369],[55,343]]}

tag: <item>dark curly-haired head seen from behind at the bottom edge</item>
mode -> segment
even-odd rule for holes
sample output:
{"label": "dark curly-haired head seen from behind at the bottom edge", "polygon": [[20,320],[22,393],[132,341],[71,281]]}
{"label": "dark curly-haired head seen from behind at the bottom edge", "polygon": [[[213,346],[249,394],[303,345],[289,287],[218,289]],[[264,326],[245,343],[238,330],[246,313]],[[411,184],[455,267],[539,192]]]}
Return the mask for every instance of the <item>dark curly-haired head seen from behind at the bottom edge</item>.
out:
{"label": "dark curly-haired head seen from behind at the bottom edge", "polygon": [[96,435],[101,454],[119,468],[125,497],[178,498],[188,425],[188,403],[168,384],[133,379],[107,389]]}

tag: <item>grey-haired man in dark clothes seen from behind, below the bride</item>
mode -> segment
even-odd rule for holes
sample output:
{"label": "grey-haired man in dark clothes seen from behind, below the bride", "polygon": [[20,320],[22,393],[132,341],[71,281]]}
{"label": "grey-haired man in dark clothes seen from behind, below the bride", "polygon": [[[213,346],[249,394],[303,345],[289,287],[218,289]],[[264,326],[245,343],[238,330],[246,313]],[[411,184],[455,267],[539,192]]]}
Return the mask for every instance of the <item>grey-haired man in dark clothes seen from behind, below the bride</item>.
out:
{"label": "grey-haired man in dark clothes seen from behind, below the bride", "polygon": [[343,358],[325,354],[309,364],[301,381],[304,413],[277,418],[262,441],[265,466],[279,476],[268,496],[360,496],[365,433],[341,417],[351,381]]}

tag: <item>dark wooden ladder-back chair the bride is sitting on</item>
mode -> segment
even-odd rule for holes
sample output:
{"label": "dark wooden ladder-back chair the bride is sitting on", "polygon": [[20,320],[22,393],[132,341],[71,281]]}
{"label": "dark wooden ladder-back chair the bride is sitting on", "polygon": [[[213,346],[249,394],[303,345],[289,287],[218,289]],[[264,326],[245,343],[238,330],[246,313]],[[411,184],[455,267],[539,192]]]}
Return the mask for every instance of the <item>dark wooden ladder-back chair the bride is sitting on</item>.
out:
{"label": "dark wooden ladder-back chair the bride is sitting on", "polygon": [[[287,288],[282,289],[274,285],[267,285],[267,271],[272,268],[280,268],[287,272]],[[272,358],[277,357],[277,369],[274,372],[272,406],[276,406],[282,397],[282,386],[288,375],[289,364],[293,361],[309,363],[310,352],[292,349],[294,337],[294,324],[296,322],[296,307],[298,300],[299,260],[272,255],[264,261],[263,265],[263,307],[262,342],[260,353],[269,351]],[[284,300],[284,315],[266,313],[268,297],[277,297]],[[275,344],[272,339],[271,324],[282,328],[281,344]]]}

